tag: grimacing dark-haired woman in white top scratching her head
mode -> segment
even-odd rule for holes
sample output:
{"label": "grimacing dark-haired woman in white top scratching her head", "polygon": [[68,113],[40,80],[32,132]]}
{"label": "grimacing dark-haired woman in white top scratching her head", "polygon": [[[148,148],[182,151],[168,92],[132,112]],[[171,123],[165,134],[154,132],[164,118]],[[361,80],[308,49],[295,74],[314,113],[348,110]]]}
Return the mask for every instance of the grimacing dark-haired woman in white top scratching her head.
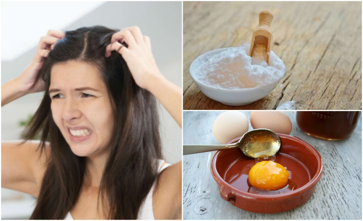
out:
{"label": "grimacing dark-haired woman in white top scratching her head", "polygon": [[50,30],[3,85],[2,106],[42,90],[26,140],[2,145],[2,186],[37,197],[32,219],[181,217],[181,163],[160,173],[156,106],[180,126],[181,91],[160,74],[138,27]]}

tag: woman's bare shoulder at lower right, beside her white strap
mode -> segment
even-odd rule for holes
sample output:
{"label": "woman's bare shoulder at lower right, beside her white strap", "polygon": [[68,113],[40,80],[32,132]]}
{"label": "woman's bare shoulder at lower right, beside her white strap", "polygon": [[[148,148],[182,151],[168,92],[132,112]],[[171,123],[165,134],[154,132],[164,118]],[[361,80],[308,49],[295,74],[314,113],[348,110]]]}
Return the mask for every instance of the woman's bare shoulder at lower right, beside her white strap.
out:
{"label": "woman's bare shoulder at lower right, beside her white strap", "polygon": [[[162,163],[160,167],[166,167]],[[181,219],[181,161],[162,170],[152,197],[155,219]]]}

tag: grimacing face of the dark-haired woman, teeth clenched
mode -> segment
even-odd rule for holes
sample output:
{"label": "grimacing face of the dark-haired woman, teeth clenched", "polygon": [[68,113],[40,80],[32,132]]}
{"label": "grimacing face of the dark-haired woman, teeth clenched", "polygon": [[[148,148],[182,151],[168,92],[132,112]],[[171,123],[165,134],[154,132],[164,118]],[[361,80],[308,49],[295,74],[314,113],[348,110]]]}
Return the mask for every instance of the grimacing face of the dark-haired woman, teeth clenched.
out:
{"label": "grimacing face of the dark-haired woman, teeth clenched", "polygon": [[74,60],[53,65],[49,95],[54,122],[74,154],[108,152],[113,113],[106,85],[95,66]]}

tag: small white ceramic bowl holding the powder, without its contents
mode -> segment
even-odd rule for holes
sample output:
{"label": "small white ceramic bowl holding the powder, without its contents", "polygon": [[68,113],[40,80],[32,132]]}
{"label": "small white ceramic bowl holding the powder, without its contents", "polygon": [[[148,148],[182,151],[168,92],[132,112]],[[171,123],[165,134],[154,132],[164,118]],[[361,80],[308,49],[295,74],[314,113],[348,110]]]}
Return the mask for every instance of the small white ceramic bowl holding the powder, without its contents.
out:
{"label": "small white ceramic bowl holding the powder, without its contents", "polygon": [[227,49],[230,48],[220,48],[201,54],[190,65],[189,73],[192,76],[193,81],[196,83],[196,85],[199,87],[199,89],[203,94],[225,105],[240,106],[240,105],[248,105],[250,103],[258,101],[261,98],[266,97],[266,95],[268,95],[276,87],[280,79],[279,81],[276,81],[273,84],[262,88],[243,88],[243,89],[232,89],[232,90],[218,89],[215,87],[205,85],[203,82],[198,81],[198,79],[196,79],[195,77],[195,73],[200,63],[207,60],[207,58],[212,56],[213,54],[217,54]]}

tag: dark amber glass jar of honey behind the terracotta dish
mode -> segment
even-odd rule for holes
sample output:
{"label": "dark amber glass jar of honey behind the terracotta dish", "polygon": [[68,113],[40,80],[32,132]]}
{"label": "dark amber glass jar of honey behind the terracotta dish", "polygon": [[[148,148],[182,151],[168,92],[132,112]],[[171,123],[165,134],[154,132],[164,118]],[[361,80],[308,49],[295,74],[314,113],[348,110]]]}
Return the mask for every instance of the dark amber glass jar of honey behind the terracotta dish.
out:
{"label": "dark amber glass jar of honey behind the terracotta dish", "polygon": [[297,111],[296,121],[306,134],[324,139],[347,138],[357,125],[360,111]]}

